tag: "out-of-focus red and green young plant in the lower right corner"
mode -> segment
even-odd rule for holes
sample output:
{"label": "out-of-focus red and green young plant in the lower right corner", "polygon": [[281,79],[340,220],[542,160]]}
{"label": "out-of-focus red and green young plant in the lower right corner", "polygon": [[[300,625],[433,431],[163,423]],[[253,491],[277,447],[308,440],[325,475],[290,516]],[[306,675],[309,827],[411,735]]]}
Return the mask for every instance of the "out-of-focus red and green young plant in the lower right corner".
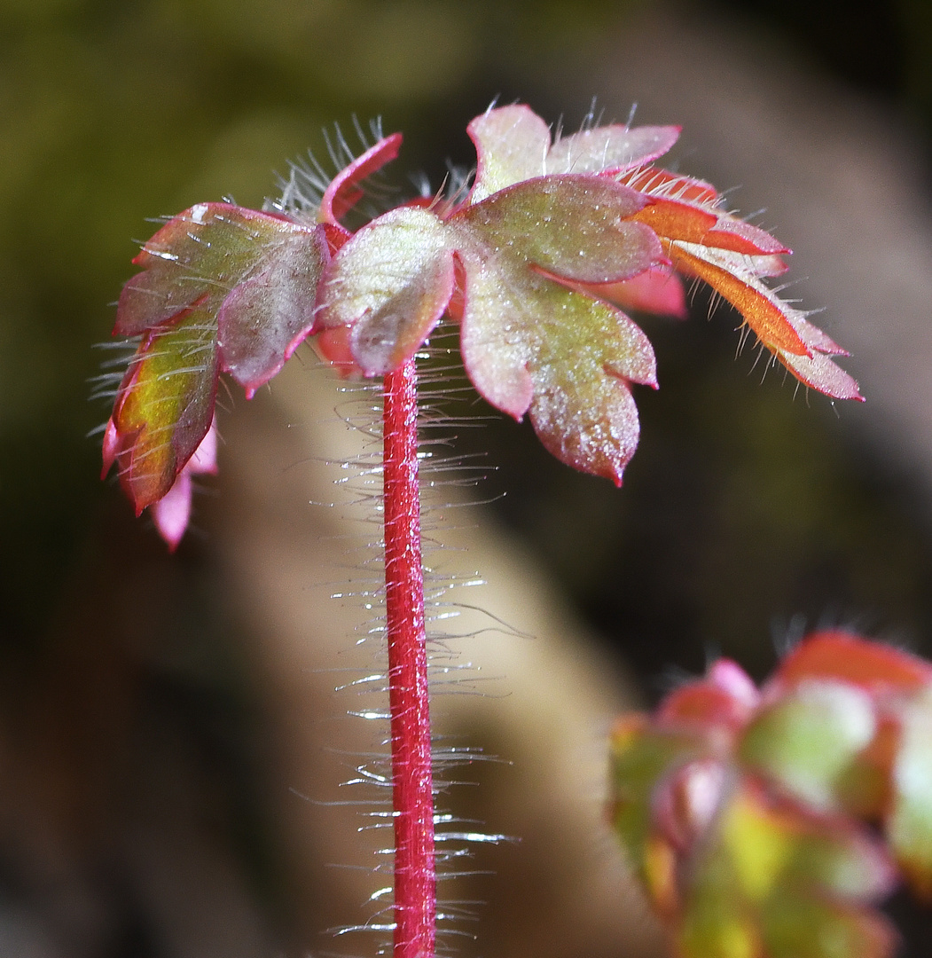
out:
{"label": "out-of-focus red and green young plant in the lower right corner", "polygon": [[820,632],[622,719],[611,817],[681,958],[888,958],[871,906],[932,901],[930,757],[932,666]]}

